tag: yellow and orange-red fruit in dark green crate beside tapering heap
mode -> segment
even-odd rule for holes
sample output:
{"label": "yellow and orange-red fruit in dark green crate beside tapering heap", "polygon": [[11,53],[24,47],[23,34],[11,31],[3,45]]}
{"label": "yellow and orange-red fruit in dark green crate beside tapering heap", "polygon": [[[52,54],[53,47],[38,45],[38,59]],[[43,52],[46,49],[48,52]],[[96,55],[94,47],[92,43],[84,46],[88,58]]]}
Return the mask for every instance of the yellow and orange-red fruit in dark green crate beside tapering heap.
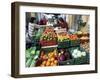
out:
{"label": "yellow and orange-red fruit in dark green crate beside tapering heap", "polygon": [[76,34],[68,34],[65,32],[58,33],[58,46],[66,48],[70,46],[76,46],[80,44],[80,40]]}

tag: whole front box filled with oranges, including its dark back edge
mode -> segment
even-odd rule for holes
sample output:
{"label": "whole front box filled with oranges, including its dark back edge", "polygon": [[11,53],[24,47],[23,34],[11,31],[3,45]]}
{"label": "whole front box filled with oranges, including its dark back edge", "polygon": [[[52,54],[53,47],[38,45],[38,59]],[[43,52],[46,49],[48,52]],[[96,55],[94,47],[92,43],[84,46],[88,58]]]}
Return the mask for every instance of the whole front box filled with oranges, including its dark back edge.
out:
{"label": "whole front box filled with oranges, including its dark back edge", "polygon": [[36,62],[36,66],[47,67],[47,66],[57,66],[57,48],[43,48],[39,59]]}

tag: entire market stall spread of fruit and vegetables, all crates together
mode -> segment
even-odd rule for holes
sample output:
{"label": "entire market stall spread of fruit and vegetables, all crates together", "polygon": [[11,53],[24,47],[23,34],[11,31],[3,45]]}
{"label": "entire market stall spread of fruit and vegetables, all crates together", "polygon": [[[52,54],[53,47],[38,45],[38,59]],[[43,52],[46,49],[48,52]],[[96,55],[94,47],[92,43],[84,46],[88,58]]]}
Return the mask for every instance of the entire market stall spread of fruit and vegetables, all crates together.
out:
{"label": "entire market stall spread of fruit and vegetables, all crates together", "polygon": [[26,67],[89,64],[89,42],[81,43],[89,36],[82,34],[56,33],[53,27],[39,29],[33,37],[36,44],[26,49]]}

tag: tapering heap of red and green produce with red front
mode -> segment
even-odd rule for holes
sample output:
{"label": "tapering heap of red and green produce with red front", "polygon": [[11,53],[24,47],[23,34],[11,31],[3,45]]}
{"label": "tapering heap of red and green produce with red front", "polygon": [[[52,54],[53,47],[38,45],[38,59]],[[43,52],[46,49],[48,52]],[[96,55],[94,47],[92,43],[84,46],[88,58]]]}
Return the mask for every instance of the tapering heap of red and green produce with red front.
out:
{"label": "tapering heap of red and green produce with red front", "polygon": [[46,27],[42,36],[40,37],[40,44],[42,46],[51,46],[57,44],[57,35],[52,27]]}

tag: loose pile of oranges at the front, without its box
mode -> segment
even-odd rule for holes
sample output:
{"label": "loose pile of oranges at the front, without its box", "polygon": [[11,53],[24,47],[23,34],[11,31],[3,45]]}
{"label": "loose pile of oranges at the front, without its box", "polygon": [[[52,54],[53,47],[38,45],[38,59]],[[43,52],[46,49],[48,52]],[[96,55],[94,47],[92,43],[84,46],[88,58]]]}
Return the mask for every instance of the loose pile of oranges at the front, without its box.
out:
{"label": "loose pile of oranges at the front, without its box", "polygon": [[57,66],[58,60],[57,60],[57,50],[51,52],[44,52],[42,51],[40,54],[40,59],[42,60],[40,66]]}

